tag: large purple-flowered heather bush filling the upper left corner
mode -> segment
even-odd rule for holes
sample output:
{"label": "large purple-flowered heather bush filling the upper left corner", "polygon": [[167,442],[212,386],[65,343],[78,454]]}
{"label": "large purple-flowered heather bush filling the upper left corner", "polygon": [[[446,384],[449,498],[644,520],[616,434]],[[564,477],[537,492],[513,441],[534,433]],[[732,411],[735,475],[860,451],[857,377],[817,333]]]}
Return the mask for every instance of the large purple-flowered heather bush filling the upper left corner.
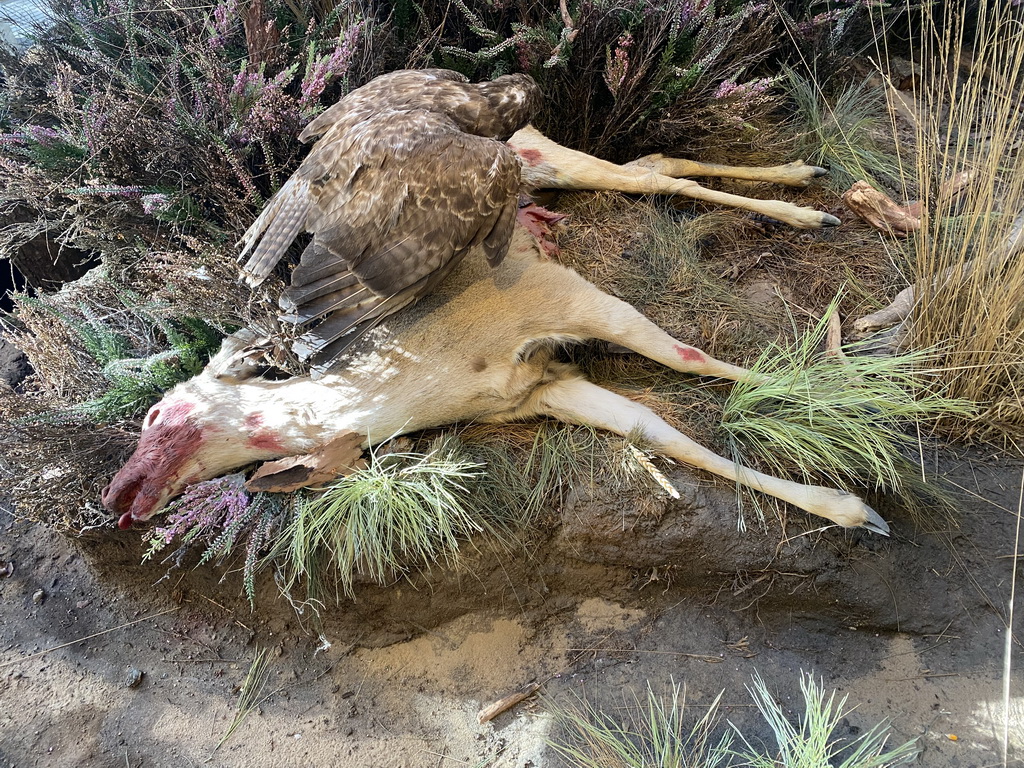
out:
{"label": "large purple-flowered heather bush filling the upper left corner", "polygon": [[[261,0],[209,14],[72,2],[52,15],[35,47],[3,62],[0,212],[18,206],[51,239],[129,264],[191,251],[191,232],[226,257],[297,164],[295,134],[350,87],[368,26],[339,4],[298,34]],[[0,237],[16,249],[29,233]]]}

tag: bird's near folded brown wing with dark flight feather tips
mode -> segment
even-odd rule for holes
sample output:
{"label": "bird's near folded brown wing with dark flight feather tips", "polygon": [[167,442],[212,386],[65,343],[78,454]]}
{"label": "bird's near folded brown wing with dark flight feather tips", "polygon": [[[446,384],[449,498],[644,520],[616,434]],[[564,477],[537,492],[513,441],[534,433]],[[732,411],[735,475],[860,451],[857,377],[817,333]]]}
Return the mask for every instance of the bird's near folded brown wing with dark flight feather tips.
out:
{"label": "bird's near folded brown wing with dark flight feather tips", "polygon": [[325,139],[307,160],[330,169],[307,179],[313,242],[282,302],[294,323],[326,318],[301,345],[319,360],[429,293],[473,247],[500,262],[520,176],[505,143],[433,113],[385,114]]}

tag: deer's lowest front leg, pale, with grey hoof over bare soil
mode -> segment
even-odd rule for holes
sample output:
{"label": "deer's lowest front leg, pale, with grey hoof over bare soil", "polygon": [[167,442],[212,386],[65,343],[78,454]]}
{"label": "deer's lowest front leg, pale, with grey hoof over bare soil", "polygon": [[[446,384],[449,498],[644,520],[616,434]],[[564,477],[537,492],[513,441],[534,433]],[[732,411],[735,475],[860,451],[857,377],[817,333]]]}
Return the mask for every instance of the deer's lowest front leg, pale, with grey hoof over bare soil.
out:
{"label": "deer's lowest front leg, pale, with grey hoof over bare soil", "polygon": [[886,521],[853,494],[805,485],[742,467],[673,429],[650,409],[584,379],[548,384],[538,391],[531,404],[538,415],[570,424],[586,424],[623,436],[639,432],[651,447],[677,461],[774,496],[839,525],[889,532]]}

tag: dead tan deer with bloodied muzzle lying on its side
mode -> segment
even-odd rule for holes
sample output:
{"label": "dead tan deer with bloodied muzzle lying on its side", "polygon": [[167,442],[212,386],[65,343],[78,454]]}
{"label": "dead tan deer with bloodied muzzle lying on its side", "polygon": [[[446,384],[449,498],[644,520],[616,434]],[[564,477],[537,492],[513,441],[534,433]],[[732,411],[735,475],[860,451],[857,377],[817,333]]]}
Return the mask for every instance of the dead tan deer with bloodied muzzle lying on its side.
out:
{"label": "dead tan deer with bloodied muzzle lying on its side", "polygon": [[[615,166],[558,146],[530,128],[511,143],[523,158],[528,183],[537,186],[625,188],[736,204],[731,196],[665,175],[728,171],[722,167],[659,157]],[[803,164],[738,171],[798,185],[822,172]],[[809,209],[740,200],[798,226],[831,223],[827,214]],[[228,337],[202,374],[150,410],[137,450],[102,495],[121,527],[147,520],[189,483],[254,462],[309,454],[346,432],[364,436],[367,446],[457,422],[547,417],[642,435],[666,456],[839,525],[888,531],[856,496],[739,466],[559,361],[559,345],[601,339],[684,374],[736,381],[754,376],[677,341],[626,302],[546,259],[520,225],[499,266],[462,260],[434,293],[369,331],[317,380],[261,378],[244,353],[253,338],[248,331]]]}

